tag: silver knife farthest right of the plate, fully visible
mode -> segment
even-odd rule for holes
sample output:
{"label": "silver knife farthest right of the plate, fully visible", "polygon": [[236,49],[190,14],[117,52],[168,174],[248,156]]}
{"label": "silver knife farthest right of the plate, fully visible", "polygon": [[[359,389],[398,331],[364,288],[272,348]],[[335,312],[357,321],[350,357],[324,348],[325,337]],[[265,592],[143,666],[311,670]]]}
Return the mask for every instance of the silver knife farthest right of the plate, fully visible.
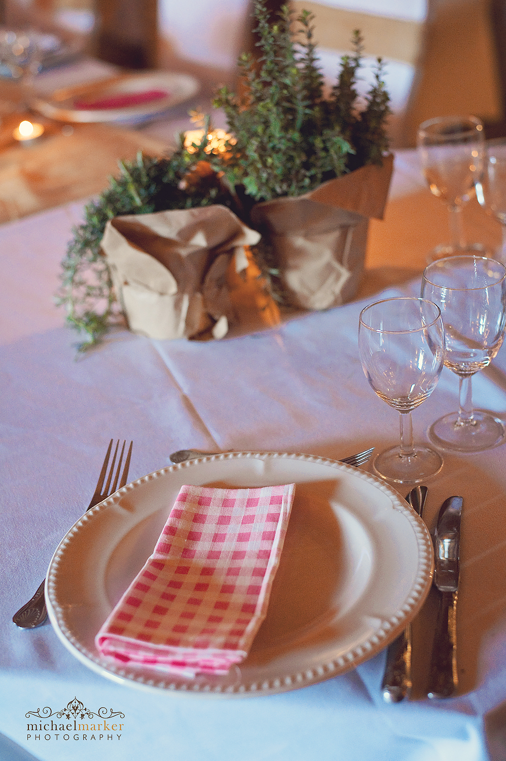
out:
{"label": "silver knife farthest right of the plate, fully visible", "polygon": [[429,698],[449,698],[459,682],[457,594],[462,503],[462,497],[449,497],[443,502],[434,534],[434,586],[440,599],[429,671]]}

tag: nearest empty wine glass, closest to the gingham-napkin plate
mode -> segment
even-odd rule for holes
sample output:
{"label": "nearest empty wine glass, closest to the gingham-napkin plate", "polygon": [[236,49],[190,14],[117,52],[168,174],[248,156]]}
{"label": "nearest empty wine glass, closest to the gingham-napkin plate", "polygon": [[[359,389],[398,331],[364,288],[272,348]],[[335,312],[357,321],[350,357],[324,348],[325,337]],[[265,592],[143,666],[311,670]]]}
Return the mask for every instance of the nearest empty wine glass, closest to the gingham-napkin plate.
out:
{"label": "nearest empty wine glass, closest to the gingham-napkin plate", "polygon": [[411,411],[427,399],[443,369],[441,310],[422,298],[389,298],[365,307],[358,353],[377,395],[399,412],[400,446],[381,452],[374,471],[398,483],[418,483],[441,470],[441,454],[413,444]]}

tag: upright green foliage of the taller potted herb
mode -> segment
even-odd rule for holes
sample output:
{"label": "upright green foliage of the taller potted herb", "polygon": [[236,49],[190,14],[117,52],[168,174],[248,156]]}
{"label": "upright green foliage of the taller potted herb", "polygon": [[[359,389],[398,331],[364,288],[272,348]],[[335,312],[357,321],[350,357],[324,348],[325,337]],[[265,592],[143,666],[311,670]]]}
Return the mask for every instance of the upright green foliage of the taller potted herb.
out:
{"label": "upright green foliage of the taller potted herb", "polygon": [[360,108],[360,33],[355,31],[354,54],[343,57],[338,81],[325,98],[313,15],[303,11],[292,32],[286,6],[274,23],[263,0],[256,0],[255,14],[260,55],[240,57],[243,91],[221,88],[215,98],[237,141],[224,167],[228,182],[263,201],[298,196],[346,170],[380,162],[387,148],[389,97],[378,59],[373,87]]}

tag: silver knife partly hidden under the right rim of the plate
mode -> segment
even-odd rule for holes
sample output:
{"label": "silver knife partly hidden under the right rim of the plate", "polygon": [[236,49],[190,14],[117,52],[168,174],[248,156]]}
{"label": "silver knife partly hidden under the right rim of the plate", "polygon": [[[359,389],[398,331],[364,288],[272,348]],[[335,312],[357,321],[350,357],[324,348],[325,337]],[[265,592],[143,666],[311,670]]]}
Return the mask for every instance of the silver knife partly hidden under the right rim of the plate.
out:
{"label": "silver knife partly hidden under the right rim of the plate", "polygon": [[[406,502],[422,517],[427,486],[415,486],[406,496]],[[387,703],[399,703],[412,688],[411,680],[411,624],[404,629],[387,649],[387,663],[381,683],[383,700]]]}

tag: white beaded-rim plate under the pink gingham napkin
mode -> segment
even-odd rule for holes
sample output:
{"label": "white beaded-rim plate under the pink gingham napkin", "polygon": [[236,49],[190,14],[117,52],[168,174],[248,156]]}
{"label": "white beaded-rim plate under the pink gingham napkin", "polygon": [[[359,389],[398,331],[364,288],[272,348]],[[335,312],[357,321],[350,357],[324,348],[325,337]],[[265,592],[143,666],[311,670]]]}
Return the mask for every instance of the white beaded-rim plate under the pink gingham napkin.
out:
{"label": "white beaded-rim plate under the pink gingham napkin", "polygon": [[[103,658],[95,635],[151,555],[183,484],[292,482],[269,609],[245,661],[221,677],[185,679]],[[158,470],[85,513],[56,549],[46,599],[63,644],[104,677],[143,689],[256,696],[321,682],[377,654],[422,607],[432,571],[424,522],[379,479],[304,454],[235,452]]]}

